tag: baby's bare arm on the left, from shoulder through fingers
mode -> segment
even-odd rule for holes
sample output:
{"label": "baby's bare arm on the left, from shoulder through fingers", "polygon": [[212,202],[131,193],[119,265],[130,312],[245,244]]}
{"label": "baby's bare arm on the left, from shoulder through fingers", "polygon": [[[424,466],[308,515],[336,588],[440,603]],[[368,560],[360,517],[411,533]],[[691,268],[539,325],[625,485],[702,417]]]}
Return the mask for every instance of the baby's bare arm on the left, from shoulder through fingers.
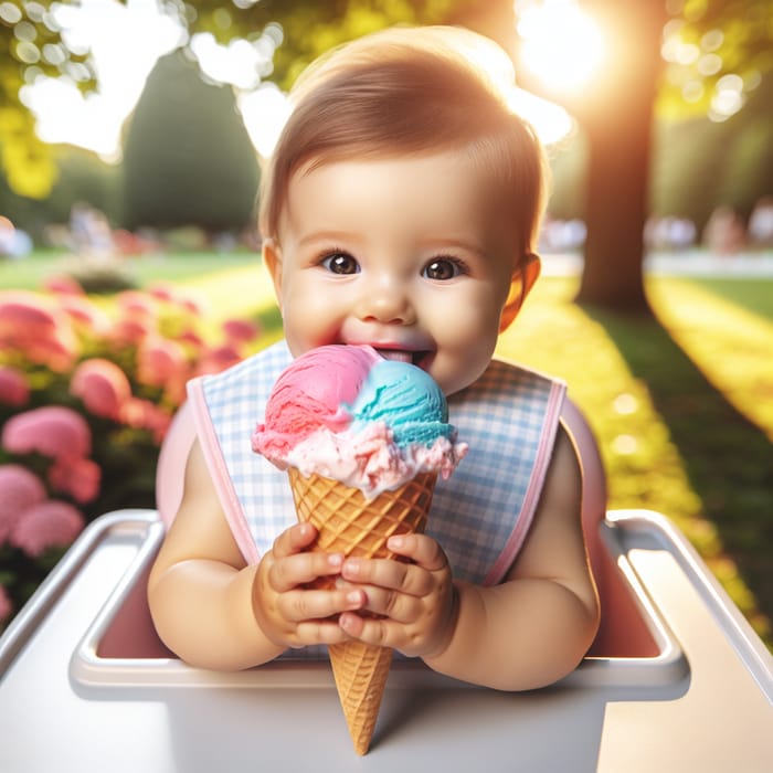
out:
{"label": "baby's bare arm on the left, from shoulder through fingers", "polygon": [[247,566],[194,443],[182,504],[148,583],[159,636],[191,665],[221,670],[266,663],[288,646],[342,640],[341,628],[324,618],[358,608],[363,597],[299,587],[340,571],[340,555],[308,552],[315,537],[308,523],[296,525]]}

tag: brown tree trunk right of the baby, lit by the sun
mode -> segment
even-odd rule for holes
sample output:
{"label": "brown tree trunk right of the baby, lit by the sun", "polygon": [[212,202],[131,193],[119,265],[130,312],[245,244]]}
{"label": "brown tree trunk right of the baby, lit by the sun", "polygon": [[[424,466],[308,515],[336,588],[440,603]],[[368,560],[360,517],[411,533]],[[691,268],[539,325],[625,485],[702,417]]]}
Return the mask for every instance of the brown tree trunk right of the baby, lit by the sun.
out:
{"label": "brown tree trunk right of the baby, lit by the sun", "polygon": [[645,313],[644,224],[664,3],[594,0],[583,8],[612,32],[612,44],[593,98],[575,109],[589,138],[587,239],[578,300]]}

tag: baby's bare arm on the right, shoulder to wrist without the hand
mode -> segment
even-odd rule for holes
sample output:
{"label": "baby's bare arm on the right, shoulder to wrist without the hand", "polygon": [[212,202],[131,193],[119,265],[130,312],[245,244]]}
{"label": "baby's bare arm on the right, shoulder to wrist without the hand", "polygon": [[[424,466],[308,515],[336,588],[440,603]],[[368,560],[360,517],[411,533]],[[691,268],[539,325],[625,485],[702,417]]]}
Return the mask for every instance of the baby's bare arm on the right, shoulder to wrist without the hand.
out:
{"label": "baby's bare arm on the right, shoulder to wrist without the hand", "polygon": [[456,582],[458,612],[437,671],[505,690],[549,685],[579,665],[599,627],[580,518],[582,478],[560,431],[527,543],[506,582]]}

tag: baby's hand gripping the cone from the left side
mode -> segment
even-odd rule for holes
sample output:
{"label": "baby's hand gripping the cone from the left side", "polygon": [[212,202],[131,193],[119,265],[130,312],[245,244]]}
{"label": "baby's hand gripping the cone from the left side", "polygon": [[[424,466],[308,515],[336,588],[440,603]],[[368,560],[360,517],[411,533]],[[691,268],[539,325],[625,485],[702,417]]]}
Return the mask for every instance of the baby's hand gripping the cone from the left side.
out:
{"label": "baby's hand gripping the cone from the left side", "polygon": [[[263,633],[277,646],[304,647],[337,644],[350,637],[336,616],[360,610],[367,602],[361,589],[336,587],[341,553],[309,550],[317,537],[310,523],[283,531],[261,560],[253,585],[253,608]],[[309,589],[319,578],[330,578],[331,590]]]}

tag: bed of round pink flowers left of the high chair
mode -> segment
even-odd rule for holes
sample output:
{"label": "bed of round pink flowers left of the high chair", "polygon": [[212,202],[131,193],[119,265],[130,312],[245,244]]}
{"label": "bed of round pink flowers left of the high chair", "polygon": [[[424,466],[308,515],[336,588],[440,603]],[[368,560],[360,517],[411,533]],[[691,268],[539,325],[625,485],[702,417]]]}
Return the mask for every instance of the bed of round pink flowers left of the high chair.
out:
{"label": "bed of round pink flowers left of the high chair", "polygon": [[166,286],[109,304],[70,279],[0,292],[0,626],[85,525],[153,507],[159,447],[186,382],[241,360],[260,336]]}

